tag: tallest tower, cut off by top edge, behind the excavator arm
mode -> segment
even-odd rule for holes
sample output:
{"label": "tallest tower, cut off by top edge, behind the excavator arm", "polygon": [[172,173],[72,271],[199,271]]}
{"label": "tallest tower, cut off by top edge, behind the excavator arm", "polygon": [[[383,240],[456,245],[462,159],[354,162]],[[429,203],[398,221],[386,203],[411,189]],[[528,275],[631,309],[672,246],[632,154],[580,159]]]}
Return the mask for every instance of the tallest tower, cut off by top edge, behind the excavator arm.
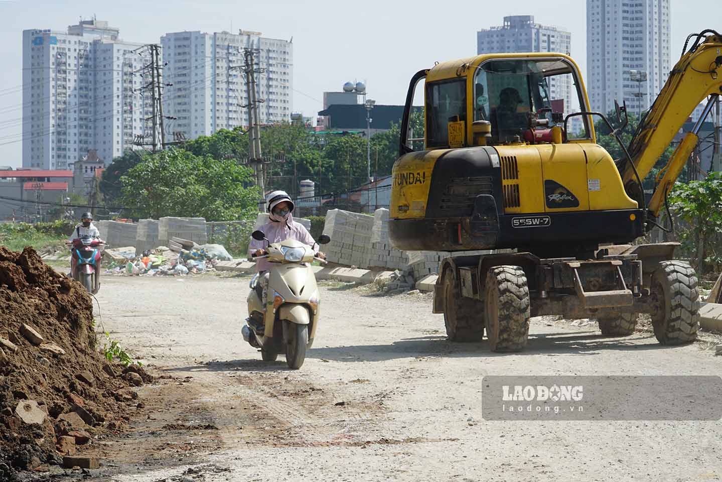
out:
{"label": "tallest tower, cut off by top edge, behind the excavator arm", "polygon": [[[593,111],[612,111],[615,99],[626,101],[632,113],[651,106],[671,69],[669,15],[669,0],[587,0],[586,77]],[[635,82],[630,71],[646,72],[646,80]]]}

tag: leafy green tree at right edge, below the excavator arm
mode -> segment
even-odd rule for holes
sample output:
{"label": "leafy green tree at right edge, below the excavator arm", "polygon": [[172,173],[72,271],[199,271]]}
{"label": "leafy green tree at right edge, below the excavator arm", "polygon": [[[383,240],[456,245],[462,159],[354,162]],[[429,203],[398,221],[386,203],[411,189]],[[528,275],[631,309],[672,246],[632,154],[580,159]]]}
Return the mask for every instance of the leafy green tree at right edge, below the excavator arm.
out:
{"label": "leafy green tree at right edge, below the excavator arm", "polygon": [[671,209],[684,220],[678,228],[684,248],[696,259],[700,275],[706,265],[722,264],[722,173],[711,172],[702,181],[675,184],[669,196]]}

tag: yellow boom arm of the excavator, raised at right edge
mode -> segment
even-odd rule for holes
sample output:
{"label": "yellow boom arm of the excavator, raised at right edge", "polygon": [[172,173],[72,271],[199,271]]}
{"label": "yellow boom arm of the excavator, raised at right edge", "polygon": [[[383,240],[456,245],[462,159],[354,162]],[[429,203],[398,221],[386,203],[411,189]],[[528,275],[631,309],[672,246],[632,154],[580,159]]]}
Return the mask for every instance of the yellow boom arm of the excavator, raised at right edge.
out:
{"label": "yellow boom arm of the excavator, raised at right edge", "polygon": [[[695,107],[708,95],[720,94],[722,94],[722,35],[713,32],[713,35],[709,35],[702,43],[695,42],[690,51],[682,55],[632,139],[629,152],[640,178],[643,179],[650,173]],[[695,132],[695,138],[696,134]],[[686,140],[687,142],[683,142],[670,158],[665,168],[666,174],[658,184],[658,188],[671,188],[682,172],[682,167],[689,158],[692,138]],[[694,148],[694,145],[691,148]],[[636,183],[631,165],[627,165],[622,178],[625,186]],[[658,194],[656,201],[650,205],[654,214],[658,212],[666,191],[656,194]]]}

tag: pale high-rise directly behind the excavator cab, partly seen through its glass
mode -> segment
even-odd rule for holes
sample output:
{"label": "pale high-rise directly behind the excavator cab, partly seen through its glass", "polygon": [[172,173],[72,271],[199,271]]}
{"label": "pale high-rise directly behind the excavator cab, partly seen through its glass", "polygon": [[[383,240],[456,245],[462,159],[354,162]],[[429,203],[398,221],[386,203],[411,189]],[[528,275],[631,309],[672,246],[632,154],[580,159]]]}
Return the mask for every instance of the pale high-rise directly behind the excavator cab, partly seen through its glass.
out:
{"label": "pale high-rise directly behind the excavator cab, partly seen through its glass", "polygon": [[[504,17],[504,25],[482,29],[477,32],[477,53],[510,52],[560,52],[570,53],[571,34],[557,27],[534,23],[533,15],[512,15]],[[564,100],[564,112],[571,113],[572,81],[570,76],[550,79],[549,96]]]}

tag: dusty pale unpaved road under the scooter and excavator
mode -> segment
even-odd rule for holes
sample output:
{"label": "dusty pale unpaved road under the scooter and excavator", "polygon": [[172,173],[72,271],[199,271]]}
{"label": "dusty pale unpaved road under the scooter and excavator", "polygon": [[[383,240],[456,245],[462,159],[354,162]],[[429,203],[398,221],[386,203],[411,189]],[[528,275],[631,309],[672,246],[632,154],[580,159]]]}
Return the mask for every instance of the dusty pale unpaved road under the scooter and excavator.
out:
{"label": "dusty pale unpaved road under the scooter and excavator", "polygon": [[496,354],[446,341],[430,296],[326,285],[316,344],[288,371],[243,343],[247,291],[247,277],[103,279],[105,330],[175,378],[142,387],[131,429],[96,444],[97,480],[722,478],[720,421],[484,421],[480,408],[491,374],[721,374],[703,343],[532,319],[525,352]]}

